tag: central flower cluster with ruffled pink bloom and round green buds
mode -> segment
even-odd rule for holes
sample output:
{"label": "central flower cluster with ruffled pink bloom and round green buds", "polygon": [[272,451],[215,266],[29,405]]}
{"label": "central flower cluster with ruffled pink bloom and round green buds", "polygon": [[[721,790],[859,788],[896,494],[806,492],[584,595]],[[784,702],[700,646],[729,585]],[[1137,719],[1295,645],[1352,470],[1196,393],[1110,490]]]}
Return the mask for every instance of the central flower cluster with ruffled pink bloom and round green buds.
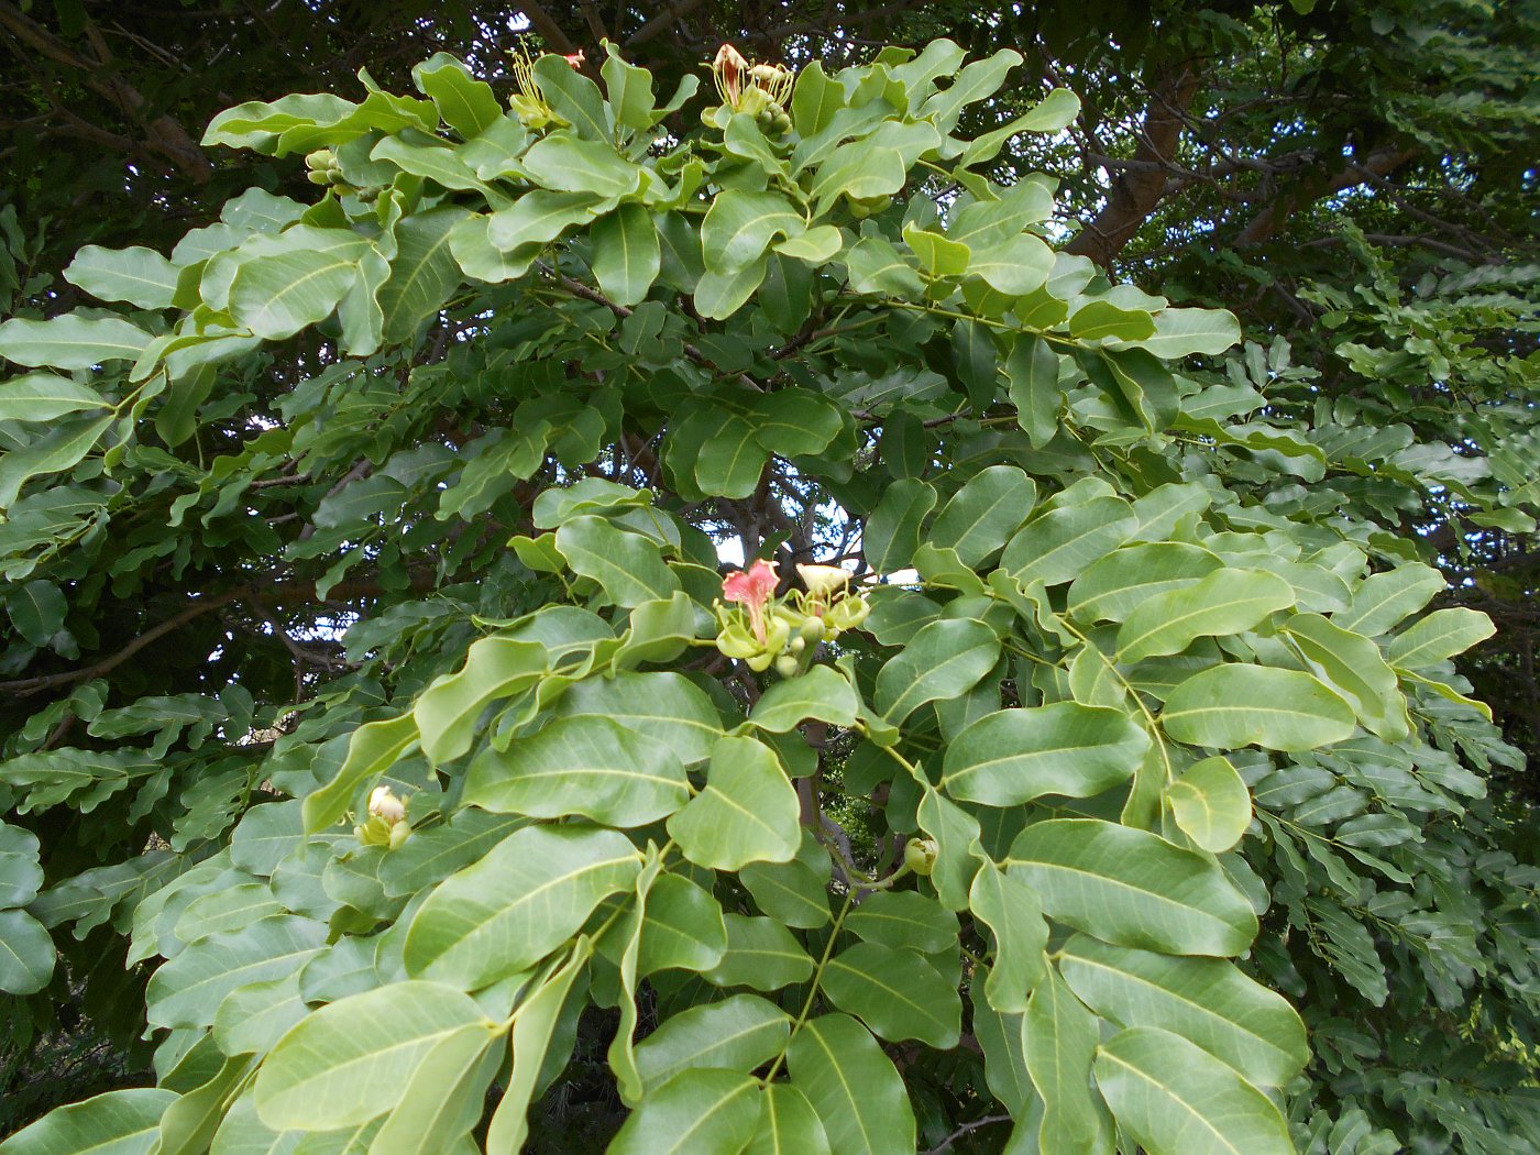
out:
{"label": "central flower cluster with ruffled pink bloom and round green buds", "polygon": [[747,662],[750,670],[775,664],[793,678],[812,664],[819,642],[832,642],[865,621],[865,598],[850,593],[850,574],[836,565],[798,565],[807,590],[775,598],[779,582],[775,562],[756,561],[722,581],[722,596],[738,608],[716,602],[721,633],[716,648]]}

